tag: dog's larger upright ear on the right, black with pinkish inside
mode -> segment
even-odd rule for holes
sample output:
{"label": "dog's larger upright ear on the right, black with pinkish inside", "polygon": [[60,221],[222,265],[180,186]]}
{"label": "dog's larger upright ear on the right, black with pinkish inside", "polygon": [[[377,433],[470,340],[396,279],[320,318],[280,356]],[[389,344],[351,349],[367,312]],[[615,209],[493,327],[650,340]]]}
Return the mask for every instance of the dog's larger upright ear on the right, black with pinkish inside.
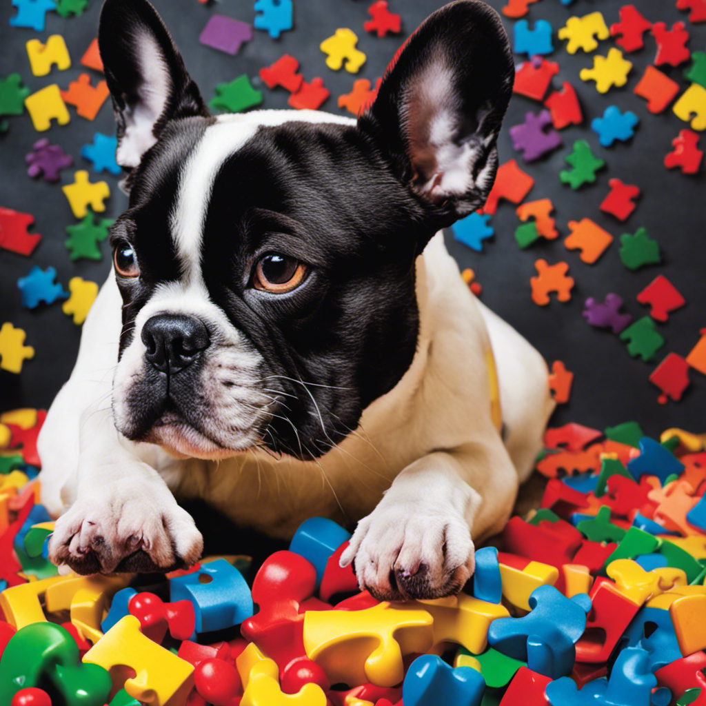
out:
{"label": "dog's larger upright ear on the right, black with pinkish inside", "polygon": [[456,0],[427,18],[395,59],[359,126],[450,225],[483,205],[495,180],[515,77],[508,35],[493,8]]}

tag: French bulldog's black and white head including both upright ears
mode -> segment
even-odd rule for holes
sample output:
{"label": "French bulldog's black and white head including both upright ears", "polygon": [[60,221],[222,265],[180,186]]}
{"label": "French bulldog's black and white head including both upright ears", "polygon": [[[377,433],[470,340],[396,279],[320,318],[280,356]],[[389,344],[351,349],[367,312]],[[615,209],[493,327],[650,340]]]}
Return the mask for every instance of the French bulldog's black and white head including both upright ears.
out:
{"label": "French bulldog's black and white head including both upright ears", "polygon": [[111,233],[117,428],[178,455],[323,455],[409,368],[415,259],[491,189],[501,20],[441,8],[358,121],[210,116],[146,0],[107,0],[99,44],[130,198]]}

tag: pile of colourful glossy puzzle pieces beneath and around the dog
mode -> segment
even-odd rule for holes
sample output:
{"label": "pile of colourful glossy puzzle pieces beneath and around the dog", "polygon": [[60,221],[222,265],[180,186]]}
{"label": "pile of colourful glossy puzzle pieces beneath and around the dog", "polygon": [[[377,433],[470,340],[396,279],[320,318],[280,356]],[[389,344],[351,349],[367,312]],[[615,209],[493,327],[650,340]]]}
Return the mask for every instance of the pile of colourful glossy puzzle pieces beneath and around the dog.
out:
{"label": "pile of colourful glossy puzzle pieces beneath and around the dog", "polygon": [[246,556],[161,579],[59,575],[37,499],[43,417],[0,417],[3,704],[705,703],[706,434],[549,429],[541,508],[477,550],[457,596],[393,604],[359,592],[338,564],[350,535],[322,517],[251,582]]}

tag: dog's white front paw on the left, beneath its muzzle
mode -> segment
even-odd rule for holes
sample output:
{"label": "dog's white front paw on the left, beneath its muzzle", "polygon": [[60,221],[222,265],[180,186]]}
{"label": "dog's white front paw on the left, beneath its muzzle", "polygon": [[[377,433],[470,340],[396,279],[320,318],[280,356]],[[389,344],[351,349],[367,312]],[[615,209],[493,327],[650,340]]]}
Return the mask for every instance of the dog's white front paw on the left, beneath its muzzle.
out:
{"label": "dog's white front paw on the left, beneath its muzzle", "polygon": [[198,561],[203,538],[164,486],[126,479],[80,496],[56,520],[49,560],[76,573],[167,572]]}

